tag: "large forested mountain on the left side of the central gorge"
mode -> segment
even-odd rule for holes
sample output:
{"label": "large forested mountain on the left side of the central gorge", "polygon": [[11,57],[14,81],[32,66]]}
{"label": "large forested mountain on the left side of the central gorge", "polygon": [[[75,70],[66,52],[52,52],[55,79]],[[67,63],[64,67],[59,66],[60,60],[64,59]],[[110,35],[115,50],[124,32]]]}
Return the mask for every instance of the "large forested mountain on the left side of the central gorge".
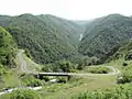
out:
{"label": "large forested mountain on the left side of the central gorge", "polygon": [[0,25],[36,63],[52,63],[77,54],[81,26],[50,14],[0,15]]}

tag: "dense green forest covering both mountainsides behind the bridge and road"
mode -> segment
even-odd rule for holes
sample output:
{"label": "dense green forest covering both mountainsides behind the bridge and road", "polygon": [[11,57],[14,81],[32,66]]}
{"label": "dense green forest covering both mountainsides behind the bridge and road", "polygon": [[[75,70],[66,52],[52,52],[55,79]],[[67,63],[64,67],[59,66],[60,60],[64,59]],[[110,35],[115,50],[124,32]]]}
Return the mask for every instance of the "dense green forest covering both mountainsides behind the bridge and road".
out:
{"label": "dense green forest covering both mountainsides behind the bridge and road", "polygon": [[78,64],[84,56],[91,57],[88,61],[94,59],[94,64],[105,63],[132,36],[132,18],[121,14],[91,21],[69,21],[51,14],[0,15],[0,25],[13,36],[19,48],[40,64],[73,58]]}

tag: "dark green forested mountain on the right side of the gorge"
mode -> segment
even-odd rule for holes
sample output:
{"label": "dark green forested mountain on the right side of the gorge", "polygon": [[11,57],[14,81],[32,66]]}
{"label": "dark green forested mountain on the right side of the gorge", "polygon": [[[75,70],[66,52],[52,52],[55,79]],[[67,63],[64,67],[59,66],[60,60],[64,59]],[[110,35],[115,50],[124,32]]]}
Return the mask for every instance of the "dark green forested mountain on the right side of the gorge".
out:
{"label": "dark green forested mountain on the right side of the gorge", "polygon": [[110,14],[96,19],[87,25],[85,36],[79,44],[79,52],[96,56],[103,63],[131,37],[132,18]]}

